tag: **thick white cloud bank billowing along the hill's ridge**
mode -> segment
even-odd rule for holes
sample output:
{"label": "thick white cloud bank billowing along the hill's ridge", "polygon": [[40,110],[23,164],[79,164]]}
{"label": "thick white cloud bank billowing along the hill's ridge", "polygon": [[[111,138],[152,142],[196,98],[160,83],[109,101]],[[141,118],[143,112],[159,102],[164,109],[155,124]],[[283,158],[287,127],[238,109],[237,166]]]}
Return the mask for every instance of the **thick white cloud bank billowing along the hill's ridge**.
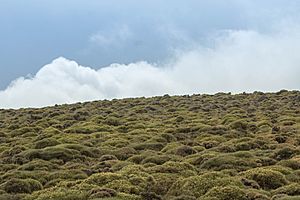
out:
{"label": "thick white cloud bank billowing along the hill's ridge", "polygon": [[[42,107],[163,94],[300,89],[299,28],[274,33],[223,31],[213,47],[177,51],[166,64],[146,61],[94,70],[60,57],[0,91],[1,108]],[[153,50],[155,51],[155,49]]]}

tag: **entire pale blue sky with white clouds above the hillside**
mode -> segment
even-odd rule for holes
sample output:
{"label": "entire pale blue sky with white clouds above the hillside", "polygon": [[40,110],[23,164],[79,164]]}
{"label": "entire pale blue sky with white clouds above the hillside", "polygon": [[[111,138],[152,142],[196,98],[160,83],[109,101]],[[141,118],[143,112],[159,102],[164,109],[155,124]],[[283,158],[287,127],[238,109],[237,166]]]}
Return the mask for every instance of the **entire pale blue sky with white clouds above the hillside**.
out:
{"label": "entire pale blue sky with white clouds above the hillside", "polygon": [[300,89],[299,0],[0,5],[0,108]]}

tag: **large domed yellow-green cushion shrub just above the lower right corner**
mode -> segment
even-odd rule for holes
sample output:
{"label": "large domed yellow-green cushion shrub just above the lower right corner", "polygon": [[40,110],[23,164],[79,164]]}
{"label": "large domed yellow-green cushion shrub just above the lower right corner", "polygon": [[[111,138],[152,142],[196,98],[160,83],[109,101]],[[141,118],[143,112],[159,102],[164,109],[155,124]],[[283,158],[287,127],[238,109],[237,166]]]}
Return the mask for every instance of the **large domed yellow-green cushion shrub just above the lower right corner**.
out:
{"label": "large domed yellow-green cushion shrub just above the lower right corner", "polygon": [[244,175],[256,181],[263,189],[277,189],[285,184],[287,180],[284,175],[278,171],[263,168],[254,168],[246,171]]}

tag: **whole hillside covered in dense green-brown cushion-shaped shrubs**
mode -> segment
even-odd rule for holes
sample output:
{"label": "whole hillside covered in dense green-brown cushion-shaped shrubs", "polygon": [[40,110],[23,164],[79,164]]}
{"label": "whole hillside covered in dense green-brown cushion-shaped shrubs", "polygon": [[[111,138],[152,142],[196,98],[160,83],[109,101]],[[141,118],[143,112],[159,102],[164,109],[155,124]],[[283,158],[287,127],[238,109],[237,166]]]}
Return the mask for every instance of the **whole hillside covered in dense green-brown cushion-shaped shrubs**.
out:
{"label": "whole hillside covered in dense green-brown cushion-shaped shrubs", "polygon": [[299,200],[300,92],[0,110],[1,200]]}

